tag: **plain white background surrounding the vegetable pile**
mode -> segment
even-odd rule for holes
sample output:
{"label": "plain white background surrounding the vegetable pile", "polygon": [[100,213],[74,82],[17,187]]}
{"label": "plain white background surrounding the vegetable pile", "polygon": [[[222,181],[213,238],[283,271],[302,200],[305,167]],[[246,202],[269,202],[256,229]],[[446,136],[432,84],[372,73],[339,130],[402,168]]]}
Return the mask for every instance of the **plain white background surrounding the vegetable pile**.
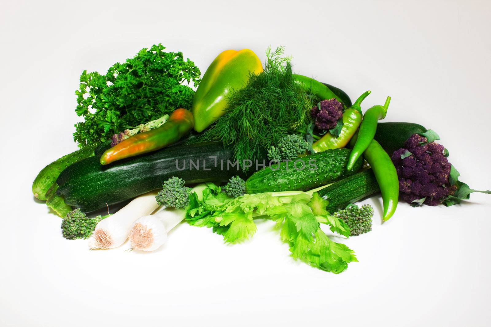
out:
{"label": "plain white background surrounding the vegetable pile", "polygon": [[[157,252],[88,251],[31,194],[76,150],[82,70],[162,42],[202,72],[222,50],[283,45],[294,70],[385,121],[432,128],[471,188],[490,189],[489,1],[10,1],[0,10],[1,326],[486,326],[491,196],[412,208],[345,240],[340,275],[289,257],[271,222],[227,246],[181,224]],[[322,325],[321,325],[322,324]]]}

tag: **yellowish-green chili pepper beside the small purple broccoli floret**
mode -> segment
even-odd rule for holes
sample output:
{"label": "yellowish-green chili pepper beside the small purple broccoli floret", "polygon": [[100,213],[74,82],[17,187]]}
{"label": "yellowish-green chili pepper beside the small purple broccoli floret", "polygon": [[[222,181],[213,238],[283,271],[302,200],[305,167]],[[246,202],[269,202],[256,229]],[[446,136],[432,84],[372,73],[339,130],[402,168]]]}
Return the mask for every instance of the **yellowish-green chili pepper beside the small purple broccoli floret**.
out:
{"label": "yellowish-green chili pepper beside the small purple broccoli floret", "polygon": [[340,149],[348,145],[361,123],[361,101],[363,101],[370,92],[371,91],[366,91],[363,93],[351,107],[344,111],[343,127],[341,128],[339,136],[336,137],[327,132],[320,140],[312,144],[312,149],[314,149],[314,151],[321,152],[328,149]]}

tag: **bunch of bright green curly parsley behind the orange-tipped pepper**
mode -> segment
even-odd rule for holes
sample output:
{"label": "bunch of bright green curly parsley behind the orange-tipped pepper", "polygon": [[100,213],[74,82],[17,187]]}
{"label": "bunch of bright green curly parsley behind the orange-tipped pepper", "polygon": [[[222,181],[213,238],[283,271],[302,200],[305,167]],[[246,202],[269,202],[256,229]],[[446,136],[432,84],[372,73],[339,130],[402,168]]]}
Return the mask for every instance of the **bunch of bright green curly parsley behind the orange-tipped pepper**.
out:
{"label": "bunch of bright green curly parsley behind the orange-tipped pepper", "polygon": [[[124,63],[115,63],[106,75],[83,71],[77,95],[74,141],[79,147],[109,140],[114,134],[169,114],[190,108],[201,72],[184,60],[182,52],[164,52],[159,43],[142,49]],[[188,85],[184,85],[187,82]]]}

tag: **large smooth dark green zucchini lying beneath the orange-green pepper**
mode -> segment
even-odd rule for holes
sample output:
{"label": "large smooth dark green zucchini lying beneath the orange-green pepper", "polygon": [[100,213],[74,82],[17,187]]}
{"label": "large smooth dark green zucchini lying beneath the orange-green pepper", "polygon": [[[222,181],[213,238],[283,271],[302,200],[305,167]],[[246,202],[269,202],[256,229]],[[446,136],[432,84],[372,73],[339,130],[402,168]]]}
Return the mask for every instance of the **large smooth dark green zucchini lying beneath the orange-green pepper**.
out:
{"label": "large smooth dark green zucchini lying beneath the orange-green pepper", "polygon": [[[214,157],[217,158],[217,167]],[[60,174],[56,180],[57,194],[64,198],[66,204],[90,212],[105,207],[106,203],[118,203],[160,189],[164,181],[172,176],[194,184],[224,182],[232,176],[242,175],[237,165],[227,169],[227,160],[234,162],[233,150],[216,142],[168,147],[106,166],[102,166],[99,159],[100,155],[85,158]],[[180,169],[186,162],[186,169],[178,170],[176,160]],[[199,169],[193,166],[190,170],[190,160],[199,165]],[[206,170],[203,169],[204,160]]]}

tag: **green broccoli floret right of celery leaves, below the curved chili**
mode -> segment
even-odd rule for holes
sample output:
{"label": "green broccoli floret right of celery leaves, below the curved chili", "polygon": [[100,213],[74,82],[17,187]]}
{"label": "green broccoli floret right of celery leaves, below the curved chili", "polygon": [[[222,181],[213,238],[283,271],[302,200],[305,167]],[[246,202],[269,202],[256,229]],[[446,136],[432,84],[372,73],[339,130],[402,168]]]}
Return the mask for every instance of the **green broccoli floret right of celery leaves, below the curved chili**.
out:
{"label": "green broccoli floret right of celery leaves, below the curved chili", "polygon": [[341,218],[350,227],[350,235],[372,230],[373,207],[370,204],[363,204],[361,208],[351,204],[344,210],[334,212],[333,216]]}

